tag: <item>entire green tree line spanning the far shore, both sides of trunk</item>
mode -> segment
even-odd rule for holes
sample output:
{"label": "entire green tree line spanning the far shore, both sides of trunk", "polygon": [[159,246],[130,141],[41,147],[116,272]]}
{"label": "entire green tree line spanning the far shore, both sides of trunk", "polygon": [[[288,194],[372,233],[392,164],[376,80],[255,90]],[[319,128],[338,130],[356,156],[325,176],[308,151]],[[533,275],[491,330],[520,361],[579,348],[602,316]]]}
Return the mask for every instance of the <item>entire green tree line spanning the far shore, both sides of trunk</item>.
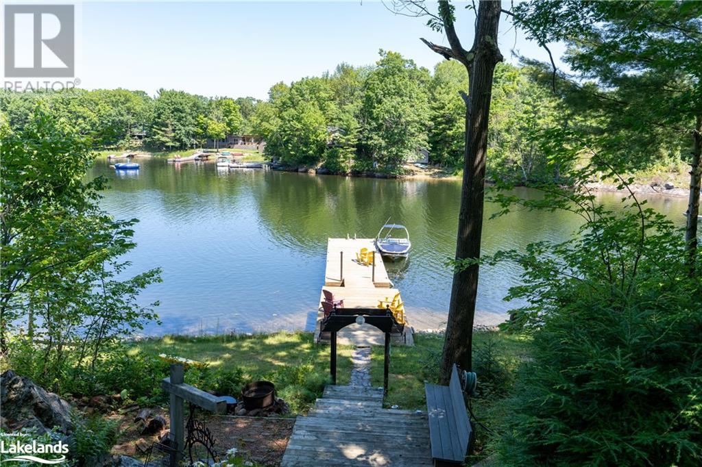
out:
{"label": "entire green tree line spanning the far shore, both sides of trunk", "polygon": [[[11,128],[21,128],[37,102],[44,102],[79,134],[90,136],[96,149],[143,145],[172,151],[201,147],[206,140],[226,135],[254,134],[267,142],[265,156],[284,165],[397,175],[406,161],[417,160],[425,151],[432,165],[449,171],[461,168],[461,93],[468,87],[465,69],[455,60],[439,62],[430,72],[399,53],[380,50],[374,65],[342,63],[322,76],[276,83],[263,101],[165,89],[153,97],[124,89],[3,90],[0,110]],[[499,63],[491,89],[487,177],[522,183],[561,180],[569,168],[549,164],[536,144],[544,128],[616,131],[632,155],[631,170],[683,165],[687,144],[674,129],[689,123],[680,111],[668,112],[665,126],[654,126],[643,137],[627,137],[638,107],[629,119],[611,119],[607,109],[583,99],[583,93],[598,95],[601,102],[619,102],[626,93],[626,102],[634,107],[642,96],[635,89],[604,83],[552,83],[548,69],[528,60],[519,66]]]}

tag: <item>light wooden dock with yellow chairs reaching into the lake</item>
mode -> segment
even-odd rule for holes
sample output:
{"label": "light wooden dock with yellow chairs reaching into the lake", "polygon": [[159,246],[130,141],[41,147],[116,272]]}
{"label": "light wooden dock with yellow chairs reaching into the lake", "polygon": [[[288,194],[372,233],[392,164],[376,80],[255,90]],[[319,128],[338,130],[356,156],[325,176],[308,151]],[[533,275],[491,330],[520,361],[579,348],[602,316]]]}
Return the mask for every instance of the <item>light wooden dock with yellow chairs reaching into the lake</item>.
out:
{"label": "light wooden dock with yellow chairs reaching into the lake", "polygon": [[[366,266],[357,261],[356,255],[362,248],[375,252],[375,265]],[[329,341],[329,334],[320,333],[322,318],[323,290],[333,293],[334,299],[343,299],[344,308],[377,308],[378,303],[390,301],[399,290],[393,287],[388,271],[376,250],[372,238],[329,238],[326,245],[326,269],[324,286],[320,291],[317,307],[315,341]],[[405,319],[407,312],[405,311]],[[320,335],[321,334],[321,335]],[[338,332],[339,344],[370,346],[383,345],[384,334],[368,324],[352,325]],[[395,344],[414,345],[412,327],[407,323],[402,333],[392,334]]]}

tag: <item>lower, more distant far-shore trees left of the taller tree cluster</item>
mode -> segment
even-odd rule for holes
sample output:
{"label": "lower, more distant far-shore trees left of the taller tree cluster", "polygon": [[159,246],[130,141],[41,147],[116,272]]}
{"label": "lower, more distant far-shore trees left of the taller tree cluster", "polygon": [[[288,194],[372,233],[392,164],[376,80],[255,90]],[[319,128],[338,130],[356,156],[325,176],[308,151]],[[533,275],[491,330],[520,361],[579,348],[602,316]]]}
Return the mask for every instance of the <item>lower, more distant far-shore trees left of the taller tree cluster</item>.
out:
{"label": "lower, more distant far-shore trees left of the taller tree cluster", "polygon": [[37,104],[65,119],[79,135],[90,137],[93,149],[187,149],[206,140],[250,133],[248,125],[258,102],[253,97],[204,97],[161,89],[154,97],[126,89],[33,93],[0,92],[0,111],[11,128],[23,128]]}

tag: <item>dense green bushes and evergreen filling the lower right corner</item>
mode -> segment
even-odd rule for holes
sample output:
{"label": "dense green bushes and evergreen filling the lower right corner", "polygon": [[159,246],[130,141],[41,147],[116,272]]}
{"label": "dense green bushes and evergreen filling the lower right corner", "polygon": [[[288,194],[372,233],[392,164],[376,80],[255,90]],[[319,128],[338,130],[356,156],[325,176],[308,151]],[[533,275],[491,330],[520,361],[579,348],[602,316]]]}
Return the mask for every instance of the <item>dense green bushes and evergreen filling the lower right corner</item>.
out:
{"label": "dense green bushes and evergreen filling the lower right corner", "polygon": [[[598,172],[627,189],[595,142],[550,133],[550,158],[590,163],[543,198],[496,196],[506,209],[583,218],[564,243],[498,253],[524,269],[511,326],[533,333],[501,441],[510,465],[697,465],[702,459],[702,283],[689,276],[679,229],[630,194],[620,214],[595,204]],[[589,148],[589,149],[588,149]]]}

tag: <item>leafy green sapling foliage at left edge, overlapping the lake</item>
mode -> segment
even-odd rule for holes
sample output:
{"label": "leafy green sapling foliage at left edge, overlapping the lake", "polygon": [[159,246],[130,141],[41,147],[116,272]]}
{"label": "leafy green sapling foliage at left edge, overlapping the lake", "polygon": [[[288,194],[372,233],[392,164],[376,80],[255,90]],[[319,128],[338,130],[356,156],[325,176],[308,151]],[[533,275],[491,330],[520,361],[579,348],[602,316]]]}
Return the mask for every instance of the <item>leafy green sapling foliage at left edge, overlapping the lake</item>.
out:
{"label": "leafy green sapling foliage at left edge, overlapping the lake", "polygon": [[40,384],[74,384],[74,370],[94,372],[112,344],[156,318],[157,303],[136,297],[159,270],[123,278],[136,219],[100,209],[105,181],[86,181],[87,137],[43,104],[0,133],[0,347]]}

